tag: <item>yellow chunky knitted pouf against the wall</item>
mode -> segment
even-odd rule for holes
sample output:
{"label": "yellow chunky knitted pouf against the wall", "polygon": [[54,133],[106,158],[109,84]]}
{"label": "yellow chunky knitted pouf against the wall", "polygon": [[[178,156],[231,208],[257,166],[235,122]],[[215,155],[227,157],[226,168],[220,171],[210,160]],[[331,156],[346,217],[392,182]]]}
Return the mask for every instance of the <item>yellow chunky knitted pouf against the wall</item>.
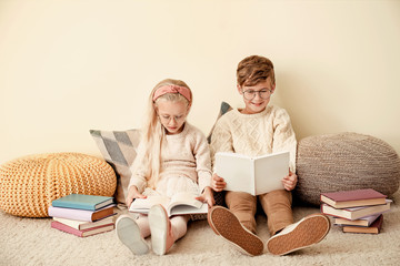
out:
{"label": "yellow chunky knitted pouf against the wall", "polygon": [[79,193],[112,196],[117,177],[103,160],[81,153],[49,153],[0,166],[0,208],[24,217],[48,217],[53,200]]}

